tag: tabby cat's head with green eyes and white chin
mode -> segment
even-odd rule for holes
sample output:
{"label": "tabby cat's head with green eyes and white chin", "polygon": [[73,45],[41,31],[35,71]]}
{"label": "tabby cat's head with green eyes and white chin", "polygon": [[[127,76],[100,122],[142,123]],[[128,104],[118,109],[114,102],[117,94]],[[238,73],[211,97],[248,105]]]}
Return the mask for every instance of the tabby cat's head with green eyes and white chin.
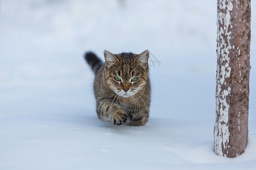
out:
{"label": "tabby cat's head with green eyes and white chin", "polygon": [[141,54],[112,54],[107,50],[105,56],[105,78],[115,94],[122,97],[133,96],[146,85],[148,79],[149,52]]}

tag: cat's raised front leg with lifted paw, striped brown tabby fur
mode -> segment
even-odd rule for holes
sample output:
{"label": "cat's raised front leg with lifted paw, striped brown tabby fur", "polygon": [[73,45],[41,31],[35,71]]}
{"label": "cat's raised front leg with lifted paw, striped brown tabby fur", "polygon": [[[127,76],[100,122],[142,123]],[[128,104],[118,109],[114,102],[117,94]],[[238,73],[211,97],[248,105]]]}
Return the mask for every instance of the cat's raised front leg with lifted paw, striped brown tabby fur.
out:
{"label": "cat's raised front leg with lifted paw, striped brown tabby fur", "polygon": [[111,120],[114,125],[122,125],[127,120],[127,113],[111,100],[98,101],[96,111],[102,121]]}

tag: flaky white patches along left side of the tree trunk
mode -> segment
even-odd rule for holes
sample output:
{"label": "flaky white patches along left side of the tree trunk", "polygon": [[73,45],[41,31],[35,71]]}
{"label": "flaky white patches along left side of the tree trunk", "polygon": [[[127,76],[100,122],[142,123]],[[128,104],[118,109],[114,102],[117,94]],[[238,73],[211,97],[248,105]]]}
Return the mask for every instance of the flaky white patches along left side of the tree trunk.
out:
{"label": "flaky white patches along left side of the tree trunk", "polygon": [[[229,143],[229,104],[227,97],[230,95],[231,88],[227,87],[223,89],[223,85],[226,84],[226,79],[230,77],[231,67],[229,66],[230,56],[229,52],[232,49],[230,44],[231,31],[229,27],[232,27],[230,21],[230,12],[233,9],[232,0],[226,1],[220,0],[218,3],[218,22],[217,22],[217,57],[219,63],[224,65],[217,66],[217,88],[216,88],[216,123],[214,128],[214,152],[220,156],[226,156],[223,153],[225,148],[228,148]],[[225,12],[222,12],[224,9]],[[221,25],[220,25],[221,24]],[[224,37],[226,37],[224,39]],[[218,117],[218,118],[217,118]]]}

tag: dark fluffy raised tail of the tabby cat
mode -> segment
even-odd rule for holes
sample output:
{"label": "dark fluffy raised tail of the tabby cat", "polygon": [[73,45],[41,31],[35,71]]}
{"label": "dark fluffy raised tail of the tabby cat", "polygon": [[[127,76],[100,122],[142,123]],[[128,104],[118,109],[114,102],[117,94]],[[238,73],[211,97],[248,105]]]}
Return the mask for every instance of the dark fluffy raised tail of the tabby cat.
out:
{"label": "dark fluffy raised tail of the tabby cat", "polygon": [[85,60],[90,65],[93,72],[96,74],[98,69],[103,65],[103,62],[92,52],[86,52],[84,55]]}

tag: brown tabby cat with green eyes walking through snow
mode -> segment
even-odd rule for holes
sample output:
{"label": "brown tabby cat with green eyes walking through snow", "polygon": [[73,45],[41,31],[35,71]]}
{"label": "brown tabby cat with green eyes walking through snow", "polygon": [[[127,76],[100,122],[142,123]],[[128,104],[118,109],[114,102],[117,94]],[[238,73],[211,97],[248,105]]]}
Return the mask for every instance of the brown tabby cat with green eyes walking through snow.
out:
{"label": "brown tabby cat with green eyes walking through snow", "polygon": [[105,63],[92,52],[84,57],[96,75],[93,88],[98,118],[114,125],[146,124],[151,100],[148,50],[141,54],[105,50]]}

